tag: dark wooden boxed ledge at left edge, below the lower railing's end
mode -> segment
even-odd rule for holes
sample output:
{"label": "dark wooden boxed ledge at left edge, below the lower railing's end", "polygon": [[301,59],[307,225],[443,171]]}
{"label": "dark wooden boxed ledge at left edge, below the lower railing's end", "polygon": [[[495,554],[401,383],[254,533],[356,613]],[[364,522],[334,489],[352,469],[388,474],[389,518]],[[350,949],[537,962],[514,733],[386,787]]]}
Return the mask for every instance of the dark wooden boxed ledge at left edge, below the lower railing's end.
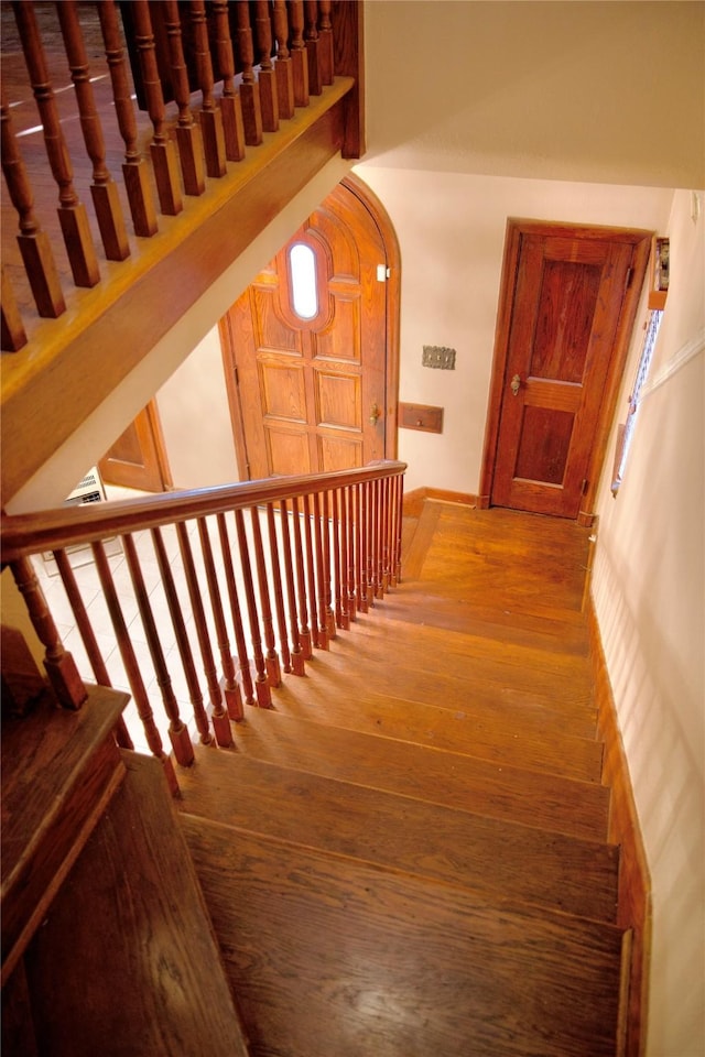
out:
{"label": "dark wooden boxed ledge at left edge, below the lower railing's end", "polygon": [[47,697],[3,719],[3,981],[124,775],[112,731],[129,697],[87,690],[77,711]]}

